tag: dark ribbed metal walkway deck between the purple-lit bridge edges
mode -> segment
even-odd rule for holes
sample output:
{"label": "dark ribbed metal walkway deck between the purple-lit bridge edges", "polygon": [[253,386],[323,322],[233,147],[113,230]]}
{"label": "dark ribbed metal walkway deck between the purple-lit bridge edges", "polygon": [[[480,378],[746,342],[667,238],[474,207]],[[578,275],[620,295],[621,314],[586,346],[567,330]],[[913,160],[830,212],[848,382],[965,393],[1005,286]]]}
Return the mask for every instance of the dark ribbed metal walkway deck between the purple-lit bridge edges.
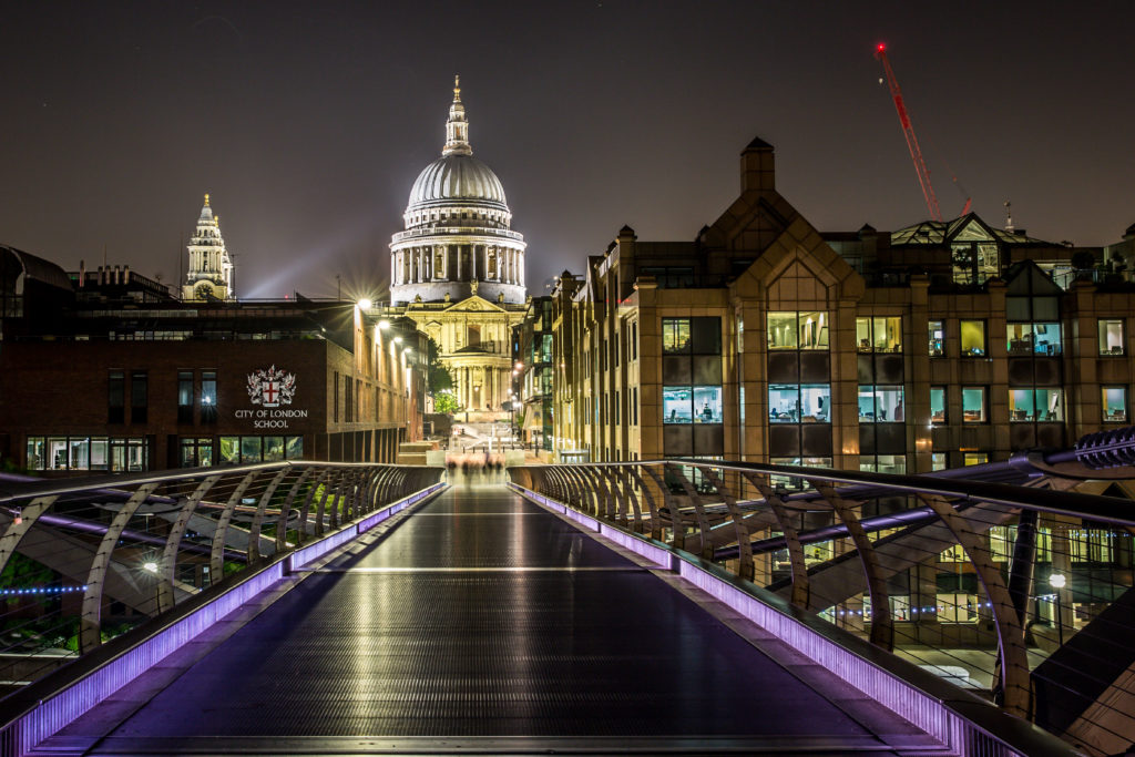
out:
{"label": "dark ribbed metal walkway deck between the purple-lit bridge edges", "polygon": [[457,486],[42,754],[933,750],[674,582],[501,483]]}

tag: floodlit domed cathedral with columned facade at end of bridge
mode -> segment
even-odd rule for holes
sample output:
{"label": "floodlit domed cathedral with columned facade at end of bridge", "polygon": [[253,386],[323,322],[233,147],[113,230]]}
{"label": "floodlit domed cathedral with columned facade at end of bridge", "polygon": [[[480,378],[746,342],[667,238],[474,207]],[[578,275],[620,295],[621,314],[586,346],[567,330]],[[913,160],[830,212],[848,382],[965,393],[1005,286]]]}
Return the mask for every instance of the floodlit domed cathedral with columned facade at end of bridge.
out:
{"label": "floodlit domed cathedral with columned facade at end of bridge", "polygon": [[390,304],[439,347],[470,411],[501,412],[512,387],[512,330],[527,308],[524,236],[496,174],[473,158],[455,82],[442,157],[410,191],[390,241]]}

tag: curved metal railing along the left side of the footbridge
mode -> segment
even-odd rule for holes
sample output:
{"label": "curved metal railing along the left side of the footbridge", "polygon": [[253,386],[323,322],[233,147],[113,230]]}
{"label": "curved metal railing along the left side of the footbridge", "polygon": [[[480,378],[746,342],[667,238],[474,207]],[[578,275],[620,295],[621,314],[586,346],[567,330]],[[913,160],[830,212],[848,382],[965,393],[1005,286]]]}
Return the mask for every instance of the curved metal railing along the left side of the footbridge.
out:
{"label": "curved metal railing along the left side of the footbridge", "polygon": [[294,461],[6,481],[0,695],[443,473]]}

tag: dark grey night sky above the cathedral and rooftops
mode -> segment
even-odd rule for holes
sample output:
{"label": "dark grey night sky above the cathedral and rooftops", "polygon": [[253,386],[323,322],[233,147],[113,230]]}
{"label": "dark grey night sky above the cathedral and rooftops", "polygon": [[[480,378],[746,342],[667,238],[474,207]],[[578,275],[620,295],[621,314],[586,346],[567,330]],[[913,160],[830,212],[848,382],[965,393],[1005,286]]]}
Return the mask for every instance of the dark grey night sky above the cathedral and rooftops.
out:
{"label": "dark grey night sky above the cathedral and rooftops", "polygon": [[927,211],[885,41],[943,215],[972,195],[1000,226],[1010,200],[1031,236],[1110,244],[1135,221],[1132,30],[1129,1],[8,0],[0,243],[171,283],[209,192],[239,296],[335,296],[336,274],[382,296],[454,74],[532,294],[623,224],[693,238],[754,136],[817,228],[896,229]]}

